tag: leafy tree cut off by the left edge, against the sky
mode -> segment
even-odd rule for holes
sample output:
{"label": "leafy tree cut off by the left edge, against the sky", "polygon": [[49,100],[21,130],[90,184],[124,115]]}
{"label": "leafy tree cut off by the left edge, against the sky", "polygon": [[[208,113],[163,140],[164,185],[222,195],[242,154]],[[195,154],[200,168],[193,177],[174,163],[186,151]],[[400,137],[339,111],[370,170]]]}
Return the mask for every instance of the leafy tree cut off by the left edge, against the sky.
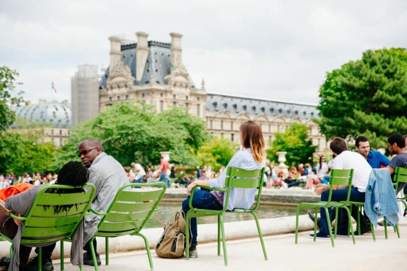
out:
{"label": "leafy tree cut off by the left edge, against the sky", "polygon": [[22,91],[15,91],[15,82],[18,72],[6,66],[0,67],[0,131],[9,127],[15,119],[15,113],[10,106],[15,106],[23,102]]}

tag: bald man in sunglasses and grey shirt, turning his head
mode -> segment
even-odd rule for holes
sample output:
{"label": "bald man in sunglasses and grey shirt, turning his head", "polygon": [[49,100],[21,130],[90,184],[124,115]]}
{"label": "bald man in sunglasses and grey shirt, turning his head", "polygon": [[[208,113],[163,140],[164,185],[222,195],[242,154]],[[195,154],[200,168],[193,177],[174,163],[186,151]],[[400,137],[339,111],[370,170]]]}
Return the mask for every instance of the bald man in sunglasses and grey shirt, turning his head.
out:
{"label": "bald man in sunglasses and grey shirt, turning his head", "polygon": [[[112,156],[107,155],[103,150],[103,145],[96,139],[86,139],[78,147],[78,157],[82,163],[89,167],[89,183],[96,186],[95,197],[91,208],[97,212],[107,211],[115,199],[117,190],[129,183],[127,174],[123,166]],[[93,266],[92,254],[90,252],[89,240],[95,235],[101,217],[90,215],[85,217],[84,229],[84,250],[83,264]],[[93,246],[96,252],[98,266],[101,264],[99,254],[96,249],[96,238],[93,239]]]}

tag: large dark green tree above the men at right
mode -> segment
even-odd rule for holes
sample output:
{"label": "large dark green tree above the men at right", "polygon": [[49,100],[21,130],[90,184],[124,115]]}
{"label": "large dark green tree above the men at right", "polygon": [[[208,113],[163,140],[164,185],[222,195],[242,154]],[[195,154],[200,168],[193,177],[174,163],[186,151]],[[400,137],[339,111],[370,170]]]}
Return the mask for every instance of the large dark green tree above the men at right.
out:
{"label": "large dark green tree above the men at right", "polygon": [[404,48],[371,51],[327,73],[319,90],[320,119],[327,137],[366,135],[383,147],[394,132],[407,133],[407,52]]}

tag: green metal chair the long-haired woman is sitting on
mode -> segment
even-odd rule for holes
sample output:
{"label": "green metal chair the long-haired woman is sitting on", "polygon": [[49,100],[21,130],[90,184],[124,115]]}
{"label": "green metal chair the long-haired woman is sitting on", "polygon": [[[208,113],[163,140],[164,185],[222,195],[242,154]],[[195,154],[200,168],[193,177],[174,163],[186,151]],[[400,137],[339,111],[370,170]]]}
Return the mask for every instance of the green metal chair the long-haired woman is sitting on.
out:
{"label": "green metal chair the long-haired woman is sitting on", "polygon": [[[244,170],[238,167],[228,167],[227,169],[227,178],[225,179],[225,187],[226,188],[215,188],[215,187],[207,187],[207,186],[195,186],[191,191],[191,196],[189,198],[189,208],[190,210],[186,213],[185,217],[185,228],[189,228],[189,218],[191,217],[207,217],[207,216],[218,216],[218,256],[221,255],[221,243],[220,238],[222,234],[222,244],[223,244],[223,255],[225,266],[228,266],[228,255],[226,252],[226,240],[225,240],[225,228],[223,224],[223,215],[225,212],[234,213],[234,214],[251,214],[256,221],[257,231],[259,233],[261,246],[263,249],[264,259],[267,260],[267,252],[266,248],[264,247],[263,236],[261,234],[259,221],[257,219],[256,214],[254,213],[260,204],[260,197],[261,197],[261,189],[263,186],[263,175],[264,175],[264,168],[262,169],[254,169],[254,170]],[[232,188],[246,188],[246,189],[258,189],[257,197],[256,197],[256,204],[248,209],[234,209],[233,211],[227,211],[228,208],[227,204],[223,207],[220,211],[215,210],[205,210],[205,209],[197,209],[192,207],[192,198],[195,193],[195,189],[197,187],[204,187],[212,190],[217,190],[226,193],[226,202],[229,202],[229,195]],[[189,230],[185,231],[186,233],[186,244],[189,244]],[[185,248],[186,259],[189,259],[189,246]]]}

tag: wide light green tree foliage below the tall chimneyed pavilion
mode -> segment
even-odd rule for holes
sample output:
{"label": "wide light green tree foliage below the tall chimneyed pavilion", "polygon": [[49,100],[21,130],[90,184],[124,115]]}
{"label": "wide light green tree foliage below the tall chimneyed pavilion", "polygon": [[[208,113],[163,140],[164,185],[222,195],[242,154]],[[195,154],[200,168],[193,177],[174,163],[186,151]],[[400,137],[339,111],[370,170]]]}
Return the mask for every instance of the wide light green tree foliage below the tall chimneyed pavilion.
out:
{"label": "wide light green tree foliage below the tall chimneyed pavilion", "polygon": [[100,140],[105,152],[123,165],[158,164],[161,151],[170,151],[173,163],[193,165],[198,162],[197,149],[209,134],[203,120],[181,108],[157,113],[149,105],[120,103],[73,128],[55,163],[78,159],[77,146],[87,138]]}

